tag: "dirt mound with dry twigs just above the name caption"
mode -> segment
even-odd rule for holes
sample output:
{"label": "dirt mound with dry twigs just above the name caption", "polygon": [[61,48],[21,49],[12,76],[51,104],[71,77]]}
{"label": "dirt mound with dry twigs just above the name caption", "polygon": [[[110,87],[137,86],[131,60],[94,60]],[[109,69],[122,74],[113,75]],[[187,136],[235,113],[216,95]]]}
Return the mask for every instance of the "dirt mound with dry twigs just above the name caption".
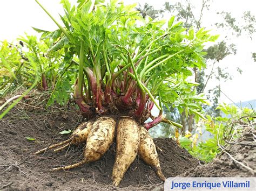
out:
{"label": "dirt mound with dry twigs just above the name caption", "polygon": [[[236,143],[230,143],[225,152],[212,162],[184,173],[197,177],[250,177],[256,176],[256,130],[247,127]],[[228,153],[228,154],[227,154]],[[239,164],[240,163],[240,164]],[[243,166],[245,165],[245,166]],[[251,168],[251,169],[250,169]]]}

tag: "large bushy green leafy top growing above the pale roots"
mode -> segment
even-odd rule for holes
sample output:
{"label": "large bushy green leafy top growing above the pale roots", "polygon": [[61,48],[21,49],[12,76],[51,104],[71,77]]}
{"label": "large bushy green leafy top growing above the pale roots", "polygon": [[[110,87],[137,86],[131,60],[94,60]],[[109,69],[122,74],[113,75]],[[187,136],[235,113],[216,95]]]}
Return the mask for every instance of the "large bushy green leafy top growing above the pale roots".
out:
{"label": "large bushy green leafy top growing above the pale roots", "polygon": [[[188,82],[187,77],[194,67],[206,67],[204,43],[215,39],[208,31],[186,29],[174,17],[165,29],[165,21],[145,19],[136,5],[116,1],[78,1],[77,7],[68,0],[61,3],[65,11],[60,16],[63,24],[42,6],[59,30],[35,29],[42,33],[41,39],[29,35],[19,38],[25,47],[20,47],[19,53],[36,63],[41,75],[37,88],[49,93],[48,105],[66,104],[75,91],[75,101],[85,102],[78,104],[80,109],[88,104],[102,112],[99,101],[106,101],[104,96],[110,94],[104,92],[107,88],[122,97],[135,83],[136,90],[149,97],[147,101],[159,110],[157,99],[186,115],[203,117],[201,104],[206,101],[203,95],[197,95],[194,87],[198,84]],[[21,74],[23,82],[35,81],[29,60],[24,61]]]}

